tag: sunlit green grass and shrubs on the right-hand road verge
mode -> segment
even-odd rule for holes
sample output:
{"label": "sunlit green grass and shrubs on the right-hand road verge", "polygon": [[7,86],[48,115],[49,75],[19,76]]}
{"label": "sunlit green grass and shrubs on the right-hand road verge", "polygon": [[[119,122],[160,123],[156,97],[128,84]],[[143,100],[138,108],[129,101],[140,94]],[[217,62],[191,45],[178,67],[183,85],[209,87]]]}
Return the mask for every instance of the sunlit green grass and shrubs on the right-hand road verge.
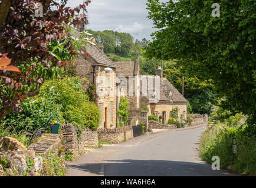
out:
{"label": "sunlit green grass and shrubs on the right-hand road verge", "polygon": [[[248,128],[250,127],[250,129]],[[256,137],[252,135],[253,126],[227,126],[226,123],[209,123],[201,138],[200,155],[203,160],[212,163],[212,156],[220,157],[222,168],[232,164],[234,173],[256,175]],[[237,139],[237,153],[232,153],[232,139]]]}

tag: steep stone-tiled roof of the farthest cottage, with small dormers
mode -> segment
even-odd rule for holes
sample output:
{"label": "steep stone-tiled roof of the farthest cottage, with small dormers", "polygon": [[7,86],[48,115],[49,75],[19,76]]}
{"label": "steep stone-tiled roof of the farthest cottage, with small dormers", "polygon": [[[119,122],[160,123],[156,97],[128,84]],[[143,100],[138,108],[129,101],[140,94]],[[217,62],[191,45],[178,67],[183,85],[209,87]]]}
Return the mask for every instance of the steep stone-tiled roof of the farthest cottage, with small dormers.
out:
{"label": "steep stone-tiled roof of the farthest cottage, with small dormers", "polygon": [[[146,78],[149,78],[149,76],[145,76]],[[160,82],[160,88],[156,88],[156,83]],[[172,85],[172,83],[169,82],[166,78],[161,78],[159,76],[156,76],[151,79],[147,79],[147,86],[142,85],[142,80],[140,80],[140,96],[142,95],[143,90],[147,90],[147,96],[146,98],[149,101],[153,101],[152,95],[150,96],[149,88],[146,88],[147,86],[151,86],[153,88],[152,92],[156,93],[157,96],[159,96],[159,100],[162,101],[170,101],[170,94],[172,94],[172,101],[173,102],[188,102],[187,99],[185,99],[180,92]]]}

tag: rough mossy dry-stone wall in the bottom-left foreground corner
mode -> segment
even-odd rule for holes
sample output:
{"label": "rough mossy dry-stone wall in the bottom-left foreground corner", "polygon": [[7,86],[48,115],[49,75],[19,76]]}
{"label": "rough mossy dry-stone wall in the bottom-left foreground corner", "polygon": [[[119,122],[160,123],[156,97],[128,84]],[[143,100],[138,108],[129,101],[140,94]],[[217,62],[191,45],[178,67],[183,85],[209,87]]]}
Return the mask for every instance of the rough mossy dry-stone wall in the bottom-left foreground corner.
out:
{"label": "rough mossy dry-stone wall in the bottom-left foreground corner", "polygon": [[[26,176],[40,176],[40,172],[43,170],[43,159],[46,159],[49,152],[60,156],[61,162],[63,165],[65,164],[64,150],[60,135],[42,133],[38,142],[32,143],[28,148],[13,137],[0,136],[0,159],[8,160],[14,165],[4,167],[0,164],[0,176],[24,176],[24,173],[27,172],[28,160],[33,160],[34,164]],[[17,166],[19,170],[17,170]]]}

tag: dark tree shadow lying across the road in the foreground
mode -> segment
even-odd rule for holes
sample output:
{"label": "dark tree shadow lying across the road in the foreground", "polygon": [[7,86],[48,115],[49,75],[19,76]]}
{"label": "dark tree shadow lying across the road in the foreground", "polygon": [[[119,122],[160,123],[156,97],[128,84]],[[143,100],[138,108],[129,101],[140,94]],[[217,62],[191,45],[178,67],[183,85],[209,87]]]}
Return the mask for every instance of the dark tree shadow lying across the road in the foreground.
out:
{"label": "dark tree shadow lying across the road in the foreground", "polygon": [[[71,164],[69,167],[96,176],[101,171],[101,163]],[[235,174],[225,170],[212,170],[211,165],[205,163],[127,159],[105,160],[104,176],[235,176]]]}

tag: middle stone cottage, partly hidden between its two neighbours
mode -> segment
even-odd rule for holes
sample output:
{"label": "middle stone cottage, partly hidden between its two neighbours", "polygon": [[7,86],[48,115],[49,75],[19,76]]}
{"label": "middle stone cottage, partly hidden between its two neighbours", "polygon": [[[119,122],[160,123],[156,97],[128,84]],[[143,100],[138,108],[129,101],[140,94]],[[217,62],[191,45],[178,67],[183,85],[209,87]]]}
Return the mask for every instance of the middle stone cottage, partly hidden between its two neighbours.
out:
{"label": "middle stone cottage, partly hidden between its two neighbours", "polygon": [[120,80],[119,100],[121,96],[127,98],[130,103],[128,125],[139,125],[140,109],[140,61],[137,58],[130,62],[114,62],[116,73]]}

